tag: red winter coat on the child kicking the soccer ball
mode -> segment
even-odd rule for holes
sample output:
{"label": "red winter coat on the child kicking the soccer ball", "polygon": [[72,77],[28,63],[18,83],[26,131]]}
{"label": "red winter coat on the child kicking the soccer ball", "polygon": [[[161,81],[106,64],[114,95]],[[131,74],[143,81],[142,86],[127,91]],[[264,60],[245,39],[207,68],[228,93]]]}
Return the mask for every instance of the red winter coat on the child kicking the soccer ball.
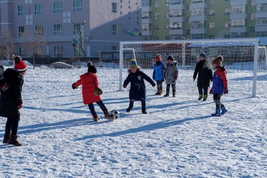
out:
{"label": "red winter coat on the child kicking the soccer ball", "polygon": [[98,87],[97,76],[94,73],[88,72],[80,76],[80,80],[75,83],[75,87],[83,85],[82,93],[84,104],[90,104],[100,101],[100,95],[95,96],[93,91]]}

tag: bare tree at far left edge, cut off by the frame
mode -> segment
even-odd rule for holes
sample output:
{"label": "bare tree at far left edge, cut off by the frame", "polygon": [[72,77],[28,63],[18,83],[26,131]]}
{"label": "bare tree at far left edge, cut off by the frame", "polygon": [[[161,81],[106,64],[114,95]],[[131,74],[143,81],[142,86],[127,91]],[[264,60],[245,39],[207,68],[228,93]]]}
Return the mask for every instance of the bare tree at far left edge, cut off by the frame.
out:
{"label": "bare tree at far left edge, cut off by the frame", "polygon": [[12,59],[12,54],[16,53],[16,43],[12,30],[1,30],[0,33],[0,60]]}

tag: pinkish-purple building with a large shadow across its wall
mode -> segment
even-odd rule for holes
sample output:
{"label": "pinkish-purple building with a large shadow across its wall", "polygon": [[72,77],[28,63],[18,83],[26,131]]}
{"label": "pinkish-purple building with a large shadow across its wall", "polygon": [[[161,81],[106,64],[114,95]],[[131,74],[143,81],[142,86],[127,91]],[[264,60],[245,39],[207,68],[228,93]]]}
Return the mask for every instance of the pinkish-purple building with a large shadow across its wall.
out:
{"label": "pinkish-purple building with a large shadow across its wall", "polygon": [[120,41],[141,40],[139,1],[0,0],[0,29],[13,32],[24,57],[32,57],[22,46],[31,32],[47,42],[43,56],[96,59],[100,50],[119,50]]}

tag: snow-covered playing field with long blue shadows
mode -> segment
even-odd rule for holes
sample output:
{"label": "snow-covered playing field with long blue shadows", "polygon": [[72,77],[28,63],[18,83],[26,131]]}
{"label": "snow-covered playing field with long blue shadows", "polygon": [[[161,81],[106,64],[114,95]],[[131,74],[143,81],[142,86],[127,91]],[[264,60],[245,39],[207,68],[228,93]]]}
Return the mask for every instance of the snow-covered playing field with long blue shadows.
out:
{"label": "snow-covered playing field with long blue shadows", "polygon": [[[152,70],[142,70],[152,77]],[[72,83],[81,69],[29,69],[24,77],[18,139],[0,139],[0,178],[266,178],[267,73],[259,74],[252,96],[252,71],[228,71],[228,112],[212,117],[215,103],[198,101],[193,70],[179,70],[177,97],[154,93],[130,113],[129,86],[119,91],[119,69],[97,68],[101,98],[121,117],[111,121],[97,104],[93,122],[82,89]],[[123,80],[128,73],[124,69]],[[166,85],[164,84],[164,93]],[[0,117],[3,137],[6,119]]]}

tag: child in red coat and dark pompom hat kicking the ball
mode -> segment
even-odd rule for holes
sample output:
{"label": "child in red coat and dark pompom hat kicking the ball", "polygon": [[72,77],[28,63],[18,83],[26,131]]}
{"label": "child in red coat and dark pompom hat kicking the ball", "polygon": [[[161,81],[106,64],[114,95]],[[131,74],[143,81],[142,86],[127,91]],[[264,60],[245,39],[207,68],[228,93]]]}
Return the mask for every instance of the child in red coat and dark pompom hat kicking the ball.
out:
{"label": "child in red coat and dark pompom hat kicking the ball", "polygon": [[105,118],[110,119],[108,109],[101,100],[100,95],[103,93],[101,89],[98,88],[98,80],[96,73],[96,68],[92,65],[91,62],[87,64],[88,72],[80,76],[80,80],[72,84],[72,89],[78,89],[78,86],[83,85],[82,93],[84,104],[88,104],[89,110],[93,116],[93,121],[99,121],[98,115],[94,110],[93,103],[99,105],[99,107],[104,112]]}

